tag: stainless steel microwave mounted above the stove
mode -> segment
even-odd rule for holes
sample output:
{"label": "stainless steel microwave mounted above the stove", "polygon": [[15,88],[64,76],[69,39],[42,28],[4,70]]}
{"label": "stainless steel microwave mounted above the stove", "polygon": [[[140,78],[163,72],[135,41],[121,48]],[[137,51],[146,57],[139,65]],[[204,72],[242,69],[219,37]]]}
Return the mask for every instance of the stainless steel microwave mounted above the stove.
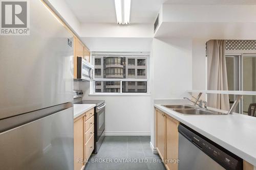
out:
{"label": "stainless steel microwave mounted above the stove", "polygon": [[94,67],[82,57],[77,57],[77,79],[75,81],[92,81]]}

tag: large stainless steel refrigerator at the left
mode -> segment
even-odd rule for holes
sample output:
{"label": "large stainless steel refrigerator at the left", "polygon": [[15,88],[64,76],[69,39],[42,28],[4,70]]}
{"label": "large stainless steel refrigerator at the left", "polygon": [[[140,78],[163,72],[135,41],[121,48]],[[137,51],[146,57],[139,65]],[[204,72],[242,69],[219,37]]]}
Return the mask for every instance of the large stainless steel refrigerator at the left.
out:
{"label": "large stainless steel refrigerator at the left", "polygon": [[73,36],[40,0],[0,36],[0,80],[0,169],[73,169]]}

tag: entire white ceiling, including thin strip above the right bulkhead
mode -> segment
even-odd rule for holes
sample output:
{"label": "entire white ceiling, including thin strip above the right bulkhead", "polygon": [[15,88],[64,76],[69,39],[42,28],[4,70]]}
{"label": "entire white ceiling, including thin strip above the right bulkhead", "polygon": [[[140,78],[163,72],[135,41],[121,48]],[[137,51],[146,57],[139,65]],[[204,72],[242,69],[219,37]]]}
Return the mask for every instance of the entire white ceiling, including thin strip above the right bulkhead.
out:
{"label": "entire white ceiling, including thin strip above the right bulkhead", "polygon": [[[81,23],[116,23],[114,0],[65,1]],[[153,23],[162,4],[256,5],[256,0],[132,0],[131,23]]]}

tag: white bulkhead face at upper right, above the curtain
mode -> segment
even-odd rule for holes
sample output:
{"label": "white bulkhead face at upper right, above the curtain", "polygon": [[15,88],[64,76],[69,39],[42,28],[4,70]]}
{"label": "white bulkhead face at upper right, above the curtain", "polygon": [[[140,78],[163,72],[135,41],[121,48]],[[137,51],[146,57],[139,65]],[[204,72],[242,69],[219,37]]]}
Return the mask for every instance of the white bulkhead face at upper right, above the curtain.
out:
{"label": "white bulkhead face at upper right, above the curtain", "polygon": [[[164,4],[163,22],[255,22],[255,5]],[[239,11],[239,12],[238,12]]]}

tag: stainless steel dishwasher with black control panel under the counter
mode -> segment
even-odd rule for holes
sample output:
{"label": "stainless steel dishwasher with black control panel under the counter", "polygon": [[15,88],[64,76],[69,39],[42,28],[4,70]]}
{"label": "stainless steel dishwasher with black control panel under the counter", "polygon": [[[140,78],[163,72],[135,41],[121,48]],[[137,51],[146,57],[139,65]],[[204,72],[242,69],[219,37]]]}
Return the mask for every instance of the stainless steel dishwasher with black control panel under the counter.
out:
{"label": "stainless steel dishwasher with black control panel under the counter", "polygon": [[179,170],[243,169],[243,159],[203,135],[180,124]]}

